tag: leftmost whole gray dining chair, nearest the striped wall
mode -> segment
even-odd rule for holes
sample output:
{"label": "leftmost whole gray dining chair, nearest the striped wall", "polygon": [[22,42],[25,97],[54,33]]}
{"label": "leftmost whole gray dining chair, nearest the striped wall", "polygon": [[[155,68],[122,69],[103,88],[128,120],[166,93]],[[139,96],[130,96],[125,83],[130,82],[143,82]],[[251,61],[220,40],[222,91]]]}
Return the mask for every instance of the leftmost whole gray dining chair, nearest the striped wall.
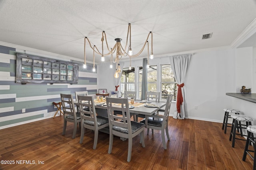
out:
{"label": "leftmost whole gray dining chair, nearest the striped wall", "polygon": [[72,94],[60,94],[60,99],[62,102],[62,109],[64,113],[64,125],[62,135],[65,135],[67,121],[74,123],[74,130],[72,139],[76,137],[77,124],[80,125],[81,118],[79,112],[76,112],[74,100]]}

